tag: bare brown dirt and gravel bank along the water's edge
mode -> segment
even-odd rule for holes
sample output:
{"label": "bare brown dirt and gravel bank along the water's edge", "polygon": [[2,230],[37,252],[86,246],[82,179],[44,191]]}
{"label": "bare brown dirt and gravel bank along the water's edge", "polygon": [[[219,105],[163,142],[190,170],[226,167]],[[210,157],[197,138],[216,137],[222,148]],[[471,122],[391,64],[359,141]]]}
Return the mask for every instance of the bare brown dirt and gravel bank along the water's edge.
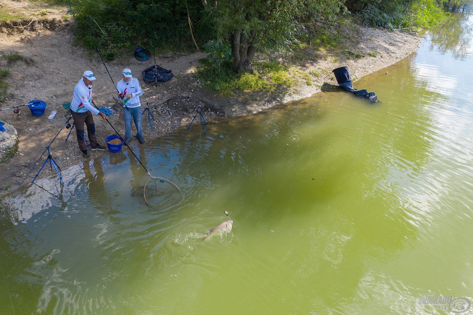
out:
{"label": "bare brown dirt and gravel bank along the water's edge", "polygon": [[[56,26],[55,24],[54,27]],[[84,70],[92,70],[96,74],[97,80],[94,81],[96,104],[113,106],[115,103],[112,99],[114,87],[98,55],[74,45],[71,26],[72,22],[66,20],[55,31],[43,28],[39,32],[0,33],[0,54],[2,55],[0,69],[9,68],[10,70],[9,76],[6,77],[10,85],[10,95],[8,99],[3,100],[1,108],[25,104],[34,99],[47,102],[46,112],[41,117],[32,116],[26,107],[23,107],[20,120],[12,111],[4,111],[0,116],[0,120],[9,122],[17,129],[19,140],[16,154],[1,166],[0,182],[11,185],[5,190],[11,189],[23,180],[30,168],[35,166],[35,161],[44,151],[44,146],[64,124],[67,115],[61,104],[70,103],[72,90]],[[197,67],[200,66],[199,59],[205,57],[204,53],[157,56],[157,63],[166,69],[172,69],[175,78],[165,83],[158,83],[157,88],[153,84],[144,84],[140,79],[144,92],[144,95],[140,97],[141,103],[146,105],[148,102],[156,118],[153,122],[153,131],[149,128],[147,117],[143,119],[145,139],[152,140],[188,124],[193,117],[196,105],[203,106],[205,117],[210,119],[256,113],[273,105],[319,92],[324,76],[334,68],[348,65],[352,76],[361,78],[399,61],[414,52],[420,44],[420,38],[413,34],[388,32],[362,26],[359,29],[363,40],[355,47],[350,47],[350,51],[363,54],[365,57],[355,60],[348,55],[341,55],[336,49],[318,51],[304,62],[292,64],[294,69],[304,73],[309,73],[311,70],[321,73],[320,76],[312,78],[312,85],[309,86],[301,81],[296,86],[272,94],[253,92],[247,93],[245,97],[223,99],[204,90],[194,76]],[[9,63],[5,55],[10,52],[18,52],[23,58]],[[376,57],[369,55],[370,52],[377,52]],[[151,60],[140,62],[132,56],[107,62],[115,82],[121,78],[123,68],[130,68],[133,75],[140,78],[141,71],[152,64]],[[330,77],[325,79],[329,82],[330,80]],[[119,131],[123,131],[121,108],[119,106],[115,108],[119,116],[109,116],[110,121]],[[47,118],[51,111],[58,112],[53,120]],[[98,116],[95,122],[99,142],[105,145],[105,137],[114,132]],[[83,161],[74,133],[65,142],[67,134],[68,130],[61,131],[51,148],[62,169]],[[146,146],[148,143],[140,146]],[[132,146],[139,145],[136,140],[132,140],[131,144]],[[107,154],[109,154],[108,151],[94,151],[92,157],[99,158]],[[36,171],[32,172],[30,176],[35,173]]]}

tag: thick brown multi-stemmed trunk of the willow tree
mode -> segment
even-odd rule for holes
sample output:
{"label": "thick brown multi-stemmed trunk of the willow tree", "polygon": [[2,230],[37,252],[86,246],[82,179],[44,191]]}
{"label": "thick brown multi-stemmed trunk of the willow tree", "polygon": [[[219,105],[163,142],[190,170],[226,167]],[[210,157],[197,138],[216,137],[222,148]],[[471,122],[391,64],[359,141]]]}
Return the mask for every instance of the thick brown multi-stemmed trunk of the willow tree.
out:
{"label": "thick brown multi-stemmed trunk of the willow tree", "polygon": [[231,38],[232,55],[234,60],[232,65],[238,69],[238,72],[253,73],[253,59],[256,54],[256,48],[253,45],[252,34],[245,34],[242,30],[236,30]]}

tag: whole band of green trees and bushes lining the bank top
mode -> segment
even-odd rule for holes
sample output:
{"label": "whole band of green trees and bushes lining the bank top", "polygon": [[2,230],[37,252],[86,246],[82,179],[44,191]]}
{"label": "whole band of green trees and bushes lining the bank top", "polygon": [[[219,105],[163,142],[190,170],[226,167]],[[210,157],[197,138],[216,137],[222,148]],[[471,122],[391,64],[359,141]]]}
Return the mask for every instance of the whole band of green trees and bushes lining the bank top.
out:
{"label": "whole band of green trees and bushes lining the bank top", "polygon": [[205,44],[213,70],[231,61],[239,72],[253,72],[256,53],[288,52],[301,43],[339,46],[353,38],[338,33],[351,30],[334,27],[348,13],[370,26],[418,28],[441,21],[446,16],[441,8],[454,2],[464,0],[77,0],[72,5],[78,39],[95,49],[90,26],[100,49],[116,55],[136,46],[193,51],[188,8],[195,40]]}

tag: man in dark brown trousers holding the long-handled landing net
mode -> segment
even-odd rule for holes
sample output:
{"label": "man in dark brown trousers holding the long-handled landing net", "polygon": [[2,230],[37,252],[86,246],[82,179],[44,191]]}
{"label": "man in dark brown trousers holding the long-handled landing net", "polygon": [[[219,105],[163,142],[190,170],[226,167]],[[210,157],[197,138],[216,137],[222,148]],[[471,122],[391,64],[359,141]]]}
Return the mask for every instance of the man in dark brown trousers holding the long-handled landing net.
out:
{"label": "man in dark brown trousers holding the long-handled landing net", "polygon": [[106,117],[104,113],[100,112],[92,105],[92,82],[94,80],[94,73],[90,70],[85,71],[82,79],[80,79],[76,87],[74,87],[74,94],[72,96],[72,102],[70,103],[70,111],[74,119],[74,126],[76,126],[77,142],[80,151],[82,151],[82,156],[85,158],[90,158],[90,154],[87,152],[86,142],[84,141],[84,122],[87,125],[90,149],[105,150],[105,148],[97,142],[94,117],[92,116],[92,113],[94,113],[100,115],[103,119]]}

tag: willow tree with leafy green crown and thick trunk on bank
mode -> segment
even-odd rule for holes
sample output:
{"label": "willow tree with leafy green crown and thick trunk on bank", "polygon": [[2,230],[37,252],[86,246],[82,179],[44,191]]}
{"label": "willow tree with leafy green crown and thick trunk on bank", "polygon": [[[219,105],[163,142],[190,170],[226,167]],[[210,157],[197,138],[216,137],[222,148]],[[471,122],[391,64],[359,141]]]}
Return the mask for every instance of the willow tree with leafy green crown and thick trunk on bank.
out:
{"label": "willow tree with leafy green crown and thick trunk on bank", "polygon": [[333,15],[342,0],[201,0],[214,25],[216,40],[231,44],[232,64],[253,72],[257,52],[286,50],[304,25]]}

